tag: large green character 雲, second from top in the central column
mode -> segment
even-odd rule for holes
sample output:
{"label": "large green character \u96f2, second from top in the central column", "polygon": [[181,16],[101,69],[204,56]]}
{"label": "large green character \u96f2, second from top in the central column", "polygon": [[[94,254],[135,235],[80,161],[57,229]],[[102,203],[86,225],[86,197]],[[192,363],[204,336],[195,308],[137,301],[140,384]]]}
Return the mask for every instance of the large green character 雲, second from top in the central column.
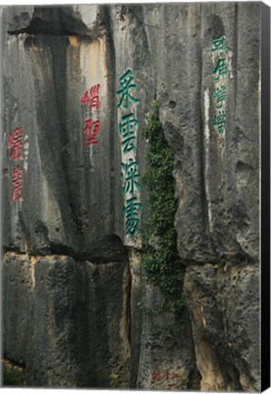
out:
{"label": "large green character \u96f2, second from top in the central column", "polygon": [[133,118],[133,114],[128,114],[122,117],[122,122],[119,124],[120,135],[122,136],[121,146],[124,147],[124,153],[128,153],[130,150],[135,151],[135,145],[133,141],[136,140],[135,128],[140,124],[137,119]]}

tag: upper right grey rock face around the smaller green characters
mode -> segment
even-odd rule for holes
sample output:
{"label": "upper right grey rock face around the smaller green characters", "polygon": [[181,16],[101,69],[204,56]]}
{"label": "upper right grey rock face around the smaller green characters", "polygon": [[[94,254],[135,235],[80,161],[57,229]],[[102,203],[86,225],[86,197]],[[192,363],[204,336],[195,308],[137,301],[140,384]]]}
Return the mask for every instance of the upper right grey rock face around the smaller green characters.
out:
{"label": "upper right grey rock face around the smaller green characters", "polygon": [[[147,26],[155,25],[153,14]],[[197,263],[239,261],[241,255],[257,261],[260,5],[163,5],[156,16],[167,26],[150,40],[164,54],[156,62],[157,96],[176,152],[180,255]],[[231,71],[225,82],[227,127],[219,137],[211,126],[212,37],[222,33]]]}

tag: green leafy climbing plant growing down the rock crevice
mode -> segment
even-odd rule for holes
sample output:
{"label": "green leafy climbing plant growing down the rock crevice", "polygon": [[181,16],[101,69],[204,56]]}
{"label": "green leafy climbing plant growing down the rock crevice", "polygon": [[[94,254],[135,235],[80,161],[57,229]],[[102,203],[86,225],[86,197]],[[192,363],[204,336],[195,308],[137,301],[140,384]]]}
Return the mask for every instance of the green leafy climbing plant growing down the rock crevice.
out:
{"label": "green leafy climbing plant growing down the rock crevice", "polygon": [[149,210],[149,218],[142,231],[144,253],[141,264],[146,281],[156,285],[162,295],[162,307],[158,310],[168,310],[174,316],[180,316],[184,305],[184,266],[178,254],[174,229],[174,153],[165,140],[157,102],[153,103],[151,115],[141,135],[148,144],[146,171],[142,181],[148,190]]}

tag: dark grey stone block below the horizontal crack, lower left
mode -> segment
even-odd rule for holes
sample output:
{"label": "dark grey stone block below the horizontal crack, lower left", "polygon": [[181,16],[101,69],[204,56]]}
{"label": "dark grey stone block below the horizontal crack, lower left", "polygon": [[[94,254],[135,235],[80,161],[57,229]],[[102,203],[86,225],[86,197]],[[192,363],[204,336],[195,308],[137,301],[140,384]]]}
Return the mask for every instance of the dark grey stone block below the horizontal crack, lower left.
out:
{"label": "dark grey stone block below the horizontal crack, lower left", "polygon": [[8,254],[5,357],[26,365],[26,384],[109,387],[130,382],[130,272],[123,261]]}

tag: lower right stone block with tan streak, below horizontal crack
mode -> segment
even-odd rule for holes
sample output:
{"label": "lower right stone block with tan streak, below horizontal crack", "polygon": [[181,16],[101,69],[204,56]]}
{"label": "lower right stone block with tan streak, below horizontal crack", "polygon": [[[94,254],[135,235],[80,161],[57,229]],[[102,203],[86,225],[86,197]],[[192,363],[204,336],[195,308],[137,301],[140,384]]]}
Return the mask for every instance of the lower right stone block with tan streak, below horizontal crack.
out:
{"label": "lower right stone block with tan streak, below horizontal crack", "polygon": [[191,266],[185,290],[201,389],[259,391],[257,267]]}

